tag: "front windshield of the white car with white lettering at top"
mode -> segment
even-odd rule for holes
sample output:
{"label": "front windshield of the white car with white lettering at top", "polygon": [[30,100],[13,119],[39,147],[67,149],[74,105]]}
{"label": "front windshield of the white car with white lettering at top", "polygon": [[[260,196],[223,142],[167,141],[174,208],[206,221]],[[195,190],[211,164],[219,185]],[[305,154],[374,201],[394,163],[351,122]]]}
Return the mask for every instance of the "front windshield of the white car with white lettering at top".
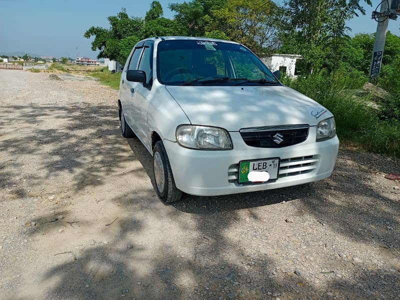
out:
{"label": "front windshield of the white car with white lettering at top", "polygon": [[195,39],[159,42],[157,77],[167,85],[280,84],[265,64],[246,47]]}

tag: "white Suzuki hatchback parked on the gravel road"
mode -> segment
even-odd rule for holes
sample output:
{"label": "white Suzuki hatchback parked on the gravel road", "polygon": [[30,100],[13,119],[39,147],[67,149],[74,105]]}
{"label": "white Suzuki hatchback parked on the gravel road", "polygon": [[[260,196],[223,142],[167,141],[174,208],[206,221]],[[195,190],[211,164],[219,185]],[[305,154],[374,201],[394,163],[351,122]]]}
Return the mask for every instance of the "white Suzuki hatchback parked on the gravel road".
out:
{"label": "white Suzuki hatchback parked on the gravel road", "polygon": [[121,131],[153,155],[162,201],[332,173],[339,146],[332,113],[279,77],[237,42],[167,36],[134,46],[120,81]]}

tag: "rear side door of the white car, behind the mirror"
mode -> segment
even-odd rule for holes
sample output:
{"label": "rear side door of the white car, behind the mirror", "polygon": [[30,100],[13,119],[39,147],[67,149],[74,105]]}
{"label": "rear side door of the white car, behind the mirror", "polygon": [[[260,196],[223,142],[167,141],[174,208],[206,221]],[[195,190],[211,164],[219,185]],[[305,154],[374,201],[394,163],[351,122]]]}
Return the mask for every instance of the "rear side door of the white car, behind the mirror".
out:
{"label": "rear side door of the white car, behind the mirror", "polygon": [[131,82],[126,80],[126,71],[127,70],[137,70],[137,65],[139,63],[139,59],[141,56],[142,52],[142,44],[136,46],[133,49],[132,55],[130,56],[129,62],[127,64],[127,67],[123,69],[122,72],[122,79],[121,79],[121,84],[120,84],[120,89],[121,89],[121,103],[122,103],[122,110],[123,114],[125,116],[126,122],[129,124],[129,126],[133,129],[133,131],[136,132],[135,128],[135,123],[134,119],[132,118],[133,113],[132,111],[136,109],[134,106],[134,89],[136,88],[136,85],[139,83],[137,82]]}

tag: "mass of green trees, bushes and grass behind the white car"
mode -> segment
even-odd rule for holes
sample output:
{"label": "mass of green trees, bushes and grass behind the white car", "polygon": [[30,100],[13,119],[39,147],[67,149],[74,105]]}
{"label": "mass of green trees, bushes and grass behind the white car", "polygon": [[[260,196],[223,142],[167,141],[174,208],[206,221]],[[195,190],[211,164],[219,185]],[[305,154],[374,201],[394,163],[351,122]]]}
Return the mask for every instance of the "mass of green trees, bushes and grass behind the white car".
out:
{"label": "mass of green trees, bushes and grass behind the white car", "polygon": [[[298,78],[284,83],[331,110],[342,141],[400,157],[400,37],[387,33],[381,75],[365,88],[374,34],[349,37],[346,26],[365,14],[365,3],[371,5],[370,0],[190,0],[169,4],[174,17],[168,19],[153,1],[145,23],[122,9],[108,17],[109,28],[91,26],[84,37],[92,38],[98,57],[121,64],[137,41],[156,35],[229,39],[258,55],[299,54]],[[119,74],[92,75],[118,88]],[[380,95],[376,86],[384,89]]]}

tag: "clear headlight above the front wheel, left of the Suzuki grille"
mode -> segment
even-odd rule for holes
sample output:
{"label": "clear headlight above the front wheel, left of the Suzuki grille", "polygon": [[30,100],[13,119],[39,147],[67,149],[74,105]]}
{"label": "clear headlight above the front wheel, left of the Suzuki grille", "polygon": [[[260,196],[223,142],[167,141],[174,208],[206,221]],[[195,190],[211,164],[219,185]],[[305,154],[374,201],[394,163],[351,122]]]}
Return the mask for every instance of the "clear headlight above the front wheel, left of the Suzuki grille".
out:
{"label": "clear headlight above the front wheel, left of the Suzuki grille", "polygon": [[176,128],[176,140],[181,146],[192,149],[232,148],[228,132],[218,127],[181,125]]}

